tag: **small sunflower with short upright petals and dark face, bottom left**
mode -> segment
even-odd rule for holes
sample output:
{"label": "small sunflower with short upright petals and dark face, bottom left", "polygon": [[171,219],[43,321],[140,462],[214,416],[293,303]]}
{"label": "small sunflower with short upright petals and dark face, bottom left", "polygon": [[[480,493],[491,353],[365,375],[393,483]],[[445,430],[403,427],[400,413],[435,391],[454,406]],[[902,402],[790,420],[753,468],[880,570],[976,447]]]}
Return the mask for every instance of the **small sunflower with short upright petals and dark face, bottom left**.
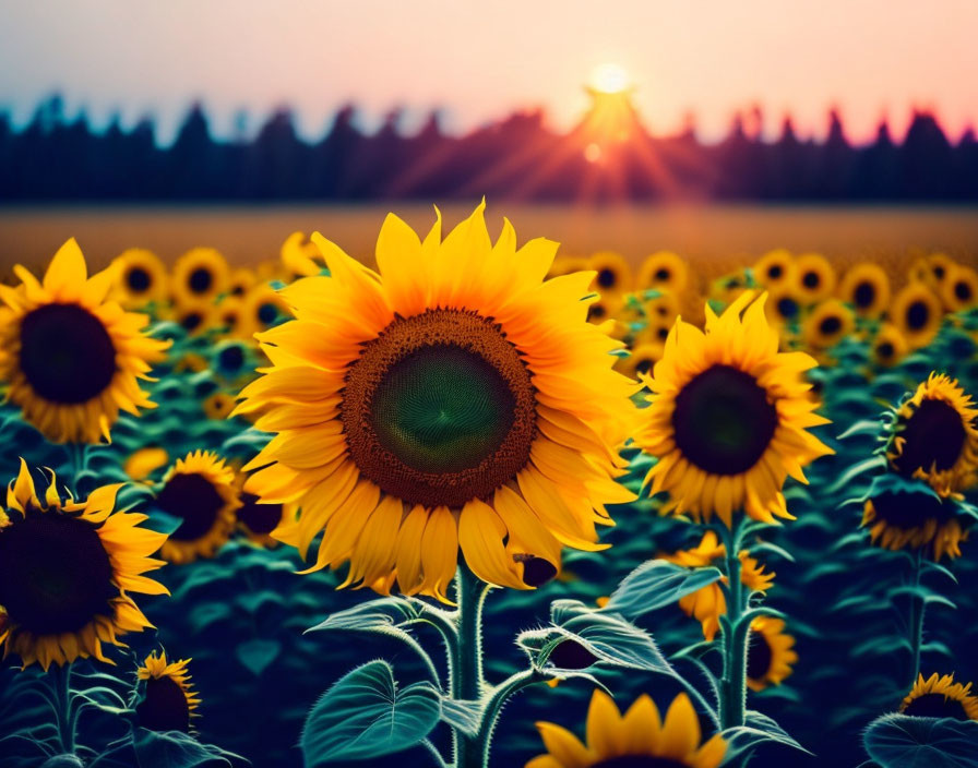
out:
{"label": "small sunflower with short upright petals and dark face, bottom left", "polygon": [[144,683],[136,694],[135,715],[141,728],[151,731],[191,731],[191,718],[201,700],[192,691],[187,664],[190,659],[167,663],[166,651],[150,653],[136,670]]}

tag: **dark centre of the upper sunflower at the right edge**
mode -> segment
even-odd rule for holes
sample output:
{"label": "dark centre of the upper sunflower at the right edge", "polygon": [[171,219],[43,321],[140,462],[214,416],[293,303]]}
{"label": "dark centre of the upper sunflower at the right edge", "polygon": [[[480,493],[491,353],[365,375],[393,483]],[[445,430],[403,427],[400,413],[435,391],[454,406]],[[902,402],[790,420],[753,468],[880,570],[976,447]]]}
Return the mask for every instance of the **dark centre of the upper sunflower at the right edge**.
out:
{"label": "dark centre of the upper sunflower at the right edge", "polygon": [[918,468],[941,472],[951,469],[961,457],[967,432],[961,413],[944,400],[926,399],[904,423],[901,436],[906,441],[894,464],[905,476]]}

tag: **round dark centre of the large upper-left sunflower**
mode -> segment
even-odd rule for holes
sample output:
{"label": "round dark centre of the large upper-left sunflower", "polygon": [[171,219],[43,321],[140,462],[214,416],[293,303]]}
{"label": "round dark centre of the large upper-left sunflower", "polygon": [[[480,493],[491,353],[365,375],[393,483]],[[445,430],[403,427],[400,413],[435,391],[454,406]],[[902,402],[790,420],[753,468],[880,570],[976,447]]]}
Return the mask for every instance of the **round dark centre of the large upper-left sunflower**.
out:
{"label": "round dark centre of the large upper-left sunflower", "polygon": [[86,403],[116,375],[116,347],[102,322],[77,304],[45,304],[21,321],[21,370],[40,397]]}

